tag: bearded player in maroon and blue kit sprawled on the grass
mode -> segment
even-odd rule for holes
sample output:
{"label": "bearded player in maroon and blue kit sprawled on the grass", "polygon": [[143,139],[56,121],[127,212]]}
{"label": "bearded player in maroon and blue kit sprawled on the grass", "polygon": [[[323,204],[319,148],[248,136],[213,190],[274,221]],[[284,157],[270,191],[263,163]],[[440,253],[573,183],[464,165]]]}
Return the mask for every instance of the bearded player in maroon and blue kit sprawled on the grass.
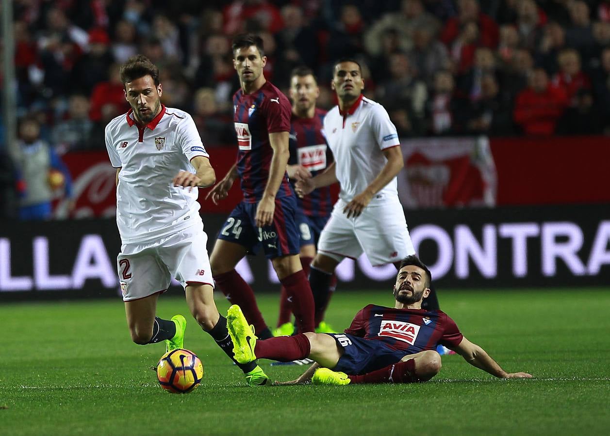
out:
{"label": "bearded player in maroon and blue kit sprawled on the grass", "polygon": [[531,378],[528,373],[504,371],[483,348],[466,339],[445,312],[422,309],[431,280],[426,265],[415,255],[407,256],[393,287],[394,307],[369,304],[342,334],[305,333],[257,341],[239,306],[231,306],[227,320],[235,360],[307,357],[317,362],[285,384],[422,382],[439,373],[440,355],[435,350],[442,344],[498,378]]}

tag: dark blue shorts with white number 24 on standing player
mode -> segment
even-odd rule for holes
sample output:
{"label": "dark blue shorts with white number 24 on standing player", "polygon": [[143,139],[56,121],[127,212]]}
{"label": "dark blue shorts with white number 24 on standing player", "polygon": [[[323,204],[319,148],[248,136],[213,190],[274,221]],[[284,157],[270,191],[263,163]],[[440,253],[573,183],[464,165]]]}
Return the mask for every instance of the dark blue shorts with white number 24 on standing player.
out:
{"label": "dark blue shorts with white number 24 on standing player", "polygon": [[296,198],[275,199],[273,222],[262,228],[256,227],[254,221],[257,206],[258,203],[243,201],[235,206],[224,222],[218,239],[243,245],[250,255],[256,255],[262,246],[268,259],[298,255],[300,238],[295,220]]}

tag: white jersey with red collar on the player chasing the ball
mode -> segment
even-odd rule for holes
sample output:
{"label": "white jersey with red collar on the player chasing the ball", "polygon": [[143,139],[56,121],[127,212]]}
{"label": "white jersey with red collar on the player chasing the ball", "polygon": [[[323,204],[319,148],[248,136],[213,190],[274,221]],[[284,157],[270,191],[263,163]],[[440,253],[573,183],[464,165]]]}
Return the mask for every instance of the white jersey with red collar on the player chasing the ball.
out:
{"label": "white jersey with red collar on the player chasing the ball", "polygon": [[110,162],[121,168],[117,225],[123,244],[145,242],[201,223],[198,189],[173,186],[179,171],[195,172],[190,161],[209,157],[195,122],[185,111],[161,107],[139,128],[132,110],[106,126]]}

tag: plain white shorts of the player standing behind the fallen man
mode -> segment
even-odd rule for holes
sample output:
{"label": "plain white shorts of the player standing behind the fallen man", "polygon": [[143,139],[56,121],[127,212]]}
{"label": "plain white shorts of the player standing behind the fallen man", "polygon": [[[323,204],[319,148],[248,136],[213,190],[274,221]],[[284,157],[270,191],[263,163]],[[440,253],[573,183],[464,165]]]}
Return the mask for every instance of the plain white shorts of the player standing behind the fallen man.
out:
{"label": "plain white shorts of the player standing behind the fallen man", "polygon": [[339,199],[318,241],[318,251],[341,261],[364,252],[371,265],[386,265],[414,255],[415,249],[398,199],[368,205],[359,217],[348,218]]}

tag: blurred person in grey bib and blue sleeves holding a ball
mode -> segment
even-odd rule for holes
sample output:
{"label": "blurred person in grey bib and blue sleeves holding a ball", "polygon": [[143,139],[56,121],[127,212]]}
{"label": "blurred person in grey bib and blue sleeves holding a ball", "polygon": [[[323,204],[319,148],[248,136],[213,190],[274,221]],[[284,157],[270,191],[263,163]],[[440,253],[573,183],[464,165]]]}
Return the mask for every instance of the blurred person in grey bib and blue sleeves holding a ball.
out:
{"label": "blurred person in grey bib and blue sleeves holding a ball", "polygon": [[51,219],[51,200],[56,191],[71,197],[68,169],[48,142],[40,139],[40,124],[34,118],[22,119],[19,126],[17,167],[24,183],[19,217],[23,220]]}

